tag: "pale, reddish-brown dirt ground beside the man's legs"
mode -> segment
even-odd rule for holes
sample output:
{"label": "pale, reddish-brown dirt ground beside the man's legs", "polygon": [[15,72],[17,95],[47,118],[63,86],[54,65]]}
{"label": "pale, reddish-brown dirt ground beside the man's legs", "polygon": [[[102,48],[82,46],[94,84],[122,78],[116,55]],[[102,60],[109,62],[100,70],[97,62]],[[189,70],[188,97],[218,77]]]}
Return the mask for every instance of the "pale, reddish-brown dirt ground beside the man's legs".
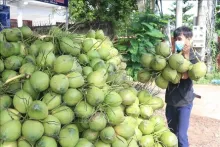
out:
{"label": "pale, reddish-brown dirt ground beside the man's legs", "polygon": [[[188,131],[190,147],[220,147],[220,86],[195,85],[194,90],[202,98],[193,104]],[[162,98],[164,92],[160,93]]]}

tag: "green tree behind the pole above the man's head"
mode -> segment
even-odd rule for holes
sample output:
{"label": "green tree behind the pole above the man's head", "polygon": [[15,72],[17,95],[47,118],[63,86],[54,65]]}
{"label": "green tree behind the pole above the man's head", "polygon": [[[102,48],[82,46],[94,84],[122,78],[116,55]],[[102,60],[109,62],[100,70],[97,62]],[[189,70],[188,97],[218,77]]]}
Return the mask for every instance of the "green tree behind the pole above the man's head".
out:
{"label": "green tree behind the pole above the man's head", "polygon": [[[193,4],[189,3],[189,0],[183,0],[183,25],[193,26],[193,17],[192,14],[187,14],[189,10],[193,8]],[[171,15],[165,15],[165,18],[169,18],[170,24],[176,26],[176,2],[173,2],[171,8],[169,8]]]}

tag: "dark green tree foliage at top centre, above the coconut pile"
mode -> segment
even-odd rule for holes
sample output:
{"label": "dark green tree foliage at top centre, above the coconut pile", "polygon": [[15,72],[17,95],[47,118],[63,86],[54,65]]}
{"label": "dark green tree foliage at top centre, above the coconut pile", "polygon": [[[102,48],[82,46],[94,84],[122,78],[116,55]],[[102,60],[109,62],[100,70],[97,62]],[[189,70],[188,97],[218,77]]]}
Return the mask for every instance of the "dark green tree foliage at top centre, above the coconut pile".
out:
{"label": "dark green tree foliage at top centre, above the coconut pile", "polygon": [[136,0],[69,0],[70,19],[74,22],[126,21]]}

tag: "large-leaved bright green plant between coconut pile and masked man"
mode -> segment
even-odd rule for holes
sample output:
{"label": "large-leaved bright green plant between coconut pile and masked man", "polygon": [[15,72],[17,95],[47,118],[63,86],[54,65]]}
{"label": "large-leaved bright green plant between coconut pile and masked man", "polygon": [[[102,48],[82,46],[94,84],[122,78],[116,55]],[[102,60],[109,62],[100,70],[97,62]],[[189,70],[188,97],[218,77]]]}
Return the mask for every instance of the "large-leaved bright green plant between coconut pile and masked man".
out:
{"label": "large-leaved bright green plant between coconut pile and masked man", "polygon": [[127,38],[119,39],[115,46],[127,63],[128,75],[136,80],[137,72],[142,68],[141,55],[147,52],[154,54],[155,45],[166,38],[162,31],[167,26],[167,20],[152,11],[136,12],[130,20]]}

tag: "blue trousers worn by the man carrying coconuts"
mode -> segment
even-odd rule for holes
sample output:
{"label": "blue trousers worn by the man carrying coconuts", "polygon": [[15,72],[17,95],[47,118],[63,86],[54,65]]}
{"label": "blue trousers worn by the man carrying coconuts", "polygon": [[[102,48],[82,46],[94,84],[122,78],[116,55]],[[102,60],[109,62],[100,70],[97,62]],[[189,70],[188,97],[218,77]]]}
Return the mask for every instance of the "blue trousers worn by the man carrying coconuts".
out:
{"label": "blue trousers worn by the man carrying coconuts", "polygon": [[166,106],[168,127],[176,134],[179,147],[189,147],[187,131],[193,104],[183,107]]}

